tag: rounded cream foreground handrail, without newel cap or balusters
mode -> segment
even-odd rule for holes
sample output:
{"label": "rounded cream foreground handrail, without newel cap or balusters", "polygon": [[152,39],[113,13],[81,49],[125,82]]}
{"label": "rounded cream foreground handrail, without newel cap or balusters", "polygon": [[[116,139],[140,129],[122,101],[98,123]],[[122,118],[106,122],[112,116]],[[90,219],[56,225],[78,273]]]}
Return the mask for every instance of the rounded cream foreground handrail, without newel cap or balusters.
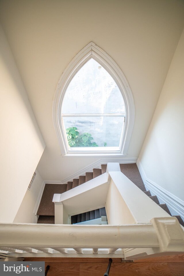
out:
{"label": "rounded cream foreground handrail, without newel cap or balusters", "polygon": [[[137,248],[158,247],[152,224],[42,225],[0,224],[2,247]],[[49,237],[49,238],[48,238]]]}

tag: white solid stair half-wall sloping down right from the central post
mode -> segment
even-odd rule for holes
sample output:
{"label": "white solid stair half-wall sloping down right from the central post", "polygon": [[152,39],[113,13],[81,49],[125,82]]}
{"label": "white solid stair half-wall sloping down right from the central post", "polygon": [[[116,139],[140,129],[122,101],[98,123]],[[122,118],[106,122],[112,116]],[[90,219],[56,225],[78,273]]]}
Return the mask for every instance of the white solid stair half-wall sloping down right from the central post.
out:
{"label": "white solid stair half-wall sloping down right from the central post", "polygon": [[106,199],[109,224],[149,223],[155,217],[170,217],[122,172],[110,171],[109,175]]}

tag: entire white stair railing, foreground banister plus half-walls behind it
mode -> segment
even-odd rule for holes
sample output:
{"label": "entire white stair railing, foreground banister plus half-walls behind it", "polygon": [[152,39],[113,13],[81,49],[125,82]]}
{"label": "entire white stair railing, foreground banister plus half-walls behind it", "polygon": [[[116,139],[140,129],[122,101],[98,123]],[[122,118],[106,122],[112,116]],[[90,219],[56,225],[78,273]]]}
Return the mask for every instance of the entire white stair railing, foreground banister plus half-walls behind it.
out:
{"label": "entire white stair railing, foreground banister plus half-walls behind it", "polygon": [[[118,163],[108,163],[107,172],[90,181],[91,185],[86,182],[73,191],[54,195],[57,225],[0,223],[0,252],[15,257],[35,253],[43,257],[48,253],[62,257],[116,255],[126,260],[184,253],[184,231],[177,218],[171,217],[122,174]],[[72,214],[73,208],[85,212],[84,205],[95,210],[96,204],[106,205],[109,225],[60,222],[63,208],[66,216]]]}

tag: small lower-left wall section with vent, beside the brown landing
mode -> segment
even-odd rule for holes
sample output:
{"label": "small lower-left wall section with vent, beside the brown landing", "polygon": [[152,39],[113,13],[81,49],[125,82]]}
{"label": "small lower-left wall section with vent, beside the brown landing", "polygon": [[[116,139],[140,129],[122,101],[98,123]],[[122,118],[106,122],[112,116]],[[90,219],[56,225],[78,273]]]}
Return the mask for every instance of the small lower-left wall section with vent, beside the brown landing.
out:
{"label": "small lower-left wall section with vent, beside the brown landing", "polygon": [[32,182],[30,190],[27,189],[22,203],[13,222],[17,223],[33,223],[33,210],[37,203],[37,198],[43,184],[43,179],[39,172],[36,170],[36,176]]}

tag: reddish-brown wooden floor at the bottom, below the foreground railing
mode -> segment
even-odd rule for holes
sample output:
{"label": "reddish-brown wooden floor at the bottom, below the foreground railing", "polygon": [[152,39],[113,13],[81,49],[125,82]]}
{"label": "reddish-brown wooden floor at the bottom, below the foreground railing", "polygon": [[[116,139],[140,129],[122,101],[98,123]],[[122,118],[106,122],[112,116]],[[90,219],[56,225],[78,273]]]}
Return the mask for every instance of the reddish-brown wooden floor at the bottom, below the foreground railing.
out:
{"label": "reddish-brown wooden floor at the bottom, below the foreground railing", "polygon": [[[108,258],[25,258],[45,261],[50,266],[47,276],[103,276]],[[184,276],[184,254],[162,256],[123,263],[113,258],[109,276]]]}

